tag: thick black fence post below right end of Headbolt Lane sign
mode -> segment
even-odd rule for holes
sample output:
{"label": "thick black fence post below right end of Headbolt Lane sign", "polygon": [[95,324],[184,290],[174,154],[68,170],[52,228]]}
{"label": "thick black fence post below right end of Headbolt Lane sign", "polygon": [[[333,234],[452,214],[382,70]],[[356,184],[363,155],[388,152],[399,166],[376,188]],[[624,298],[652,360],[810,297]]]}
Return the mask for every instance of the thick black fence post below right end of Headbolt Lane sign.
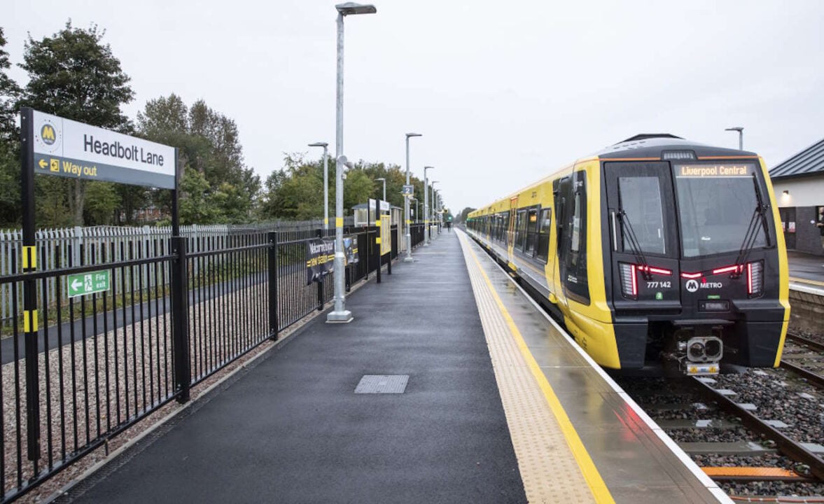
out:
{"label": "thick black fence post below right end of Headbolt Lane sign", "polygon": [[171,252],[176,257],[171,263],[171,340],[175,363],[175,390],[177,402],[189,400],[191,384],[189,362],[189,306],[186,286],[186,239],[171,237]]}

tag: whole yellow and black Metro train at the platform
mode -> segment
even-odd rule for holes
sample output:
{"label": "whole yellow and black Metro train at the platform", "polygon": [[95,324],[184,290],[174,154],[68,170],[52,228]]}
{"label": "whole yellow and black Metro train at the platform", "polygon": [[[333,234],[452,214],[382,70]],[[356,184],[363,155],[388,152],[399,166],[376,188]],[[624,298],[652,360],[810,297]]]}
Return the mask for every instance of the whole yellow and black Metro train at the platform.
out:
{"label": "whole yellow and black Metro train at the platform", "polygon": [[760,156],[643,134],[466,219],[600,365],[778,366],[789,272]]}

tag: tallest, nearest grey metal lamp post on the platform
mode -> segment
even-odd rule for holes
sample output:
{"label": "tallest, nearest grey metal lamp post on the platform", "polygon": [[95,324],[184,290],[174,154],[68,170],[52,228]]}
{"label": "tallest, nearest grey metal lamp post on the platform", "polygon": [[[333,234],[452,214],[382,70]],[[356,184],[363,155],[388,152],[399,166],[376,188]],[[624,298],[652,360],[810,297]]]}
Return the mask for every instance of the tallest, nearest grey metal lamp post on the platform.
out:
{"label": "tallest, nearest grey metal lamp post on the platform", "polygon": [[352,312],[346,310],[344,292],[344,16],[374,14],[371,4],[355,2],[335,5],[338,11],[337,86],[335,89],[335,308],[326,315],[326,322],[351,322]]}

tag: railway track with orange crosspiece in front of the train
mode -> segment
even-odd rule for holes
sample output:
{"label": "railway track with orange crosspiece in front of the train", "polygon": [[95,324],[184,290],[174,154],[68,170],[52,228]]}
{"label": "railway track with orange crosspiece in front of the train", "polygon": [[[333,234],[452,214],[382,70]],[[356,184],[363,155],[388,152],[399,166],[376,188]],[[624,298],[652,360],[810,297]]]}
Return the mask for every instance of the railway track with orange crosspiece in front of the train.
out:
{"label": "railway track with orange crosspiece in front of the train", "polygon": [[[771,373],[755,377],[781,381]],[[738,393],[723,388],[734,385],[689,378],[636,387],[634,379],[627,380],[625,390],[735,500],[793,502],[784,496],[804,495],[807,500],[798,502],[814,502],[824,495],[824,460],[781,432],[787,427],[782,422],[765,421],[747,404],[737,404],[732,398]]]}

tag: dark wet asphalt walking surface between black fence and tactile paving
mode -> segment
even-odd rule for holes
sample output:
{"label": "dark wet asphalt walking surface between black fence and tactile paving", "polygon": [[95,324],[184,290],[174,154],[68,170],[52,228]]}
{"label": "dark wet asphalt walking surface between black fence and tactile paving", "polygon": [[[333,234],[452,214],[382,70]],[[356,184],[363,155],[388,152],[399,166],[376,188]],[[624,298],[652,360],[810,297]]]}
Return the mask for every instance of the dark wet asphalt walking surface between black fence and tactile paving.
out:
{"label": "dark wet asphalt walking surface between black fence and tactile paving", "polygon": [[[61,500],[526,502],[455,233],[414,256]],[[355,394],[364,375],[409,381]]]}

